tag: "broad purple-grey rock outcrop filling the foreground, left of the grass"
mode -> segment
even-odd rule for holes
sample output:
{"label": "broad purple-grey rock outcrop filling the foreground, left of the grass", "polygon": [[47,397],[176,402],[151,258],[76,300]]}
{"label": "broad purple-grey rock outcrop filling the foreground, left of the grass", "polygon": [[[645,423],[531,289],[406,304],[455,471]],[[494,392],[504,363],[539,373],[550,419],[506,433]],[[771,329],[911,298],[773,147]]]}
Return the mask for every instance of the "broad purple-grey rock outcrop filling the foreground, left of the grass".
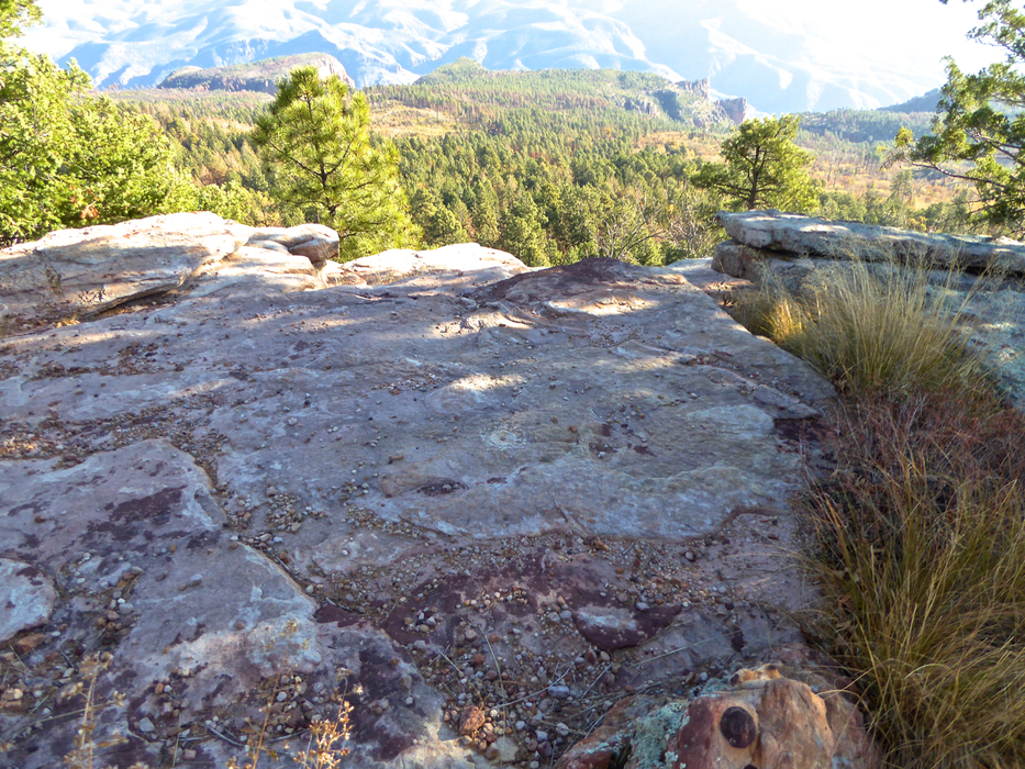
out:
{"label": "broad purple-grey rock outcrop filling the foreground, left of the grass", "polygon": [[0,766],[62,764],[101,651],[98,765],[223,766],[268,703],[282,750],[345,698],[347,765],[412,768],[547,760],[631,687],[800,640],[832,389],[706,269],[331,254],[183,214],[2,255],[143,293],[0,293]]}

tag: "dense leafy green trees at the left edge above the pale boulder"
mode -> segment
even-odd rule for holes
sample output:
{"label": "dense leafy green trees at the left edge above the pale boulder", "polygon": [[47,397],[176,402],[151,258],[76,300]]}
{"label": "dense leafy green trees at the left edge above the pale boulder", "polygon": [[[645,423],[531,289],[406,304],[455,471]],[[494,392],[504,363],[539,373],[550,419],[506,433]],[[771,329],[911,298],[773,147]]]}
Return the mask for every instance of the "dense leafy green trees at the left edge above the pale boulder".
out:
{"label": "dense leafy green trees at the left edge above the pale boulder", "polygon": [[0,243],[156,212],[170,149],[152,120],[80,92],[88,77],[0,44]]}

